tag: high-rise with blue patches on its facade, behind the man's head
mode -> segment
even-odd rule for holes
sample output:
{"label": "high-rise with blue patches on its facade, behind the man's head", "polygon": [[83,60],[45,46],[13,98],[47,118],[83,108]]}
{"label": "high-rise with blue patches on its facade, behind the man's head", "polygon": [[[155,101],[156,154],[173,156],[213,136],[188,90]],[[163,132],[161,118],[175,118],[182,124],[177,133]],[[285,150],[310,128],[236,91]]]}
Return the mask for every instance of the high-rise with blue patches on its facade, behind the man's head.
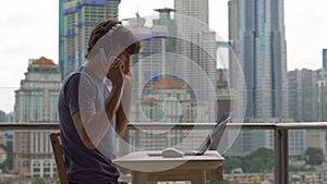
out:
{"label": "high-rise with blue patches on its facade, behind the man's head", "polygon": [[100,21],[118,19],[119,3],[120,0],[70,0],[60,2],[62,8],[59,10],[62,10],[60,13],[63,14],[63,19],[60,14],[59,59],[63,77],[84,63],[88,37],[93,27]]}

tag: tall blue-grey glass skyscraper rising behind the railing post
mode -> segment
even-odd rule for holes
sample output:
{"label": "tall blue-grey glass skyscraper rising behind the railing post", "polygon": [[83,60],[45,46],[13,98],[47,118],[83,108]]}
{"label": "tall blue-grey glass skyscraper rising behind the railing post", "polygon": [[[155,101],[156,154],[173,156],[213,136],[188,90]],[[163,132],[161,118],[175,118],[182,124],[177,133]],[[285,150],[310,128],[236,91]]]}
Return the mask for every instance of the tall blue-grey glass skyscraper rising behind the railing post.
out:
{"label": "tall blue-grey glass skyscraper rising behind the railing post", "polygon": [[228,4],[229,39],[246,81],[245,118],[288,118],[283,0],[230,0]]}

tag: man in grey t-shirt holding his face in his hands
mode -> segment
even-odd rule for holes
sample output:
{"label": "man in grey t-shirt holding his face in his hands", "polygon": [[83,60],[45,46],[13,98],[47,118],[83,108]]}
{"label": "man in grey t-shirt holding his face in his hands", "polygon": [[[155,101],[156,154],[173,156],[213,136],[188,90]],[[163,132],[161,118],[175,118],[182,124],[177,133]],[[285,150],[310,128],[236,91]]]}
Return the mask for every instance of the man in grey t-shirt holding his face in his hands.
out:
{"label": "man in grey t-shirt holding his face in his hands", "polygon": [[[123,136],[131,111],[131,54],[138,39],[121,22],[93,29],[86,62],[63,82],[58,102],[60,138],[70,184],[117,184],[116,136]],[[111,91],[104,78],[112,83]]]}

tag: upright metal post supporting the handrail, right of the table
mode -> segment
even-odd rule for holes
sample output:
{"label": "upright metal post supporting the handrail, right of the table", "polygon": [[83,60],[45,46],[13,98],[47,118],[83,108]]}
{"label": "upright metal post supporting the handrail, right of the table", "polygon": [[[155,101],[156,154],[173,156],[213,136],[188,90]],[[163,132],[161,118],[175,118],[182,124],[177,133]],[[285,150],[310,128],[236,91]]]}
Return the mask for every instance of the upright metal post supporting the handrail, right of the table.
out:
{"label": "upright metal post supporting the handrail, right of the table", "polygon": [[275,130],[275,183],[289,183],[288,130]]}

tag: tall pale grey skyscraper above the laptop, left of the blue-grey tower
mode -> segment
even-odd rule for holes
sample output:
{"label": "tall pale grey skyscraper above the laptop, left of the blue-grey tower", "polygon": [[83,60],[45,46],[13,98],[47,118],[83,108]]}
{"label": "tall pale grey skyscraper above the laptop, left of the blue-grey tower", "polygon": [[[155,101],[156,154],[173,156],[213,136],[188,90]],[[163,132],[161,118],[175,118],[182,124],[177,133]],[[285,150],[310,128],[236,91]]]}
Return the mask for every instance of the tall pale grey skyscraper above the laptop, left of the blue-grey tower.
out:
{"label": "tall pale grey skyscraper above the laptop, left of the blue-grey tower", "polygon": [[[175,62],[173,73],[178,73],[192,88],[202,89],[196,98],[208,101],[216,96],[216,32],[209,27],[208,0],[174,0],[177,27],[177,53],[184,62]],[[181,66],[181,64],[183,64]],[[215,94],[215,95],[213,95]],[[215,97],[213,97],[215,98]],[[210,109],[215,109],[210,103]],[[215,120],[216,112],[209,112]]]}

